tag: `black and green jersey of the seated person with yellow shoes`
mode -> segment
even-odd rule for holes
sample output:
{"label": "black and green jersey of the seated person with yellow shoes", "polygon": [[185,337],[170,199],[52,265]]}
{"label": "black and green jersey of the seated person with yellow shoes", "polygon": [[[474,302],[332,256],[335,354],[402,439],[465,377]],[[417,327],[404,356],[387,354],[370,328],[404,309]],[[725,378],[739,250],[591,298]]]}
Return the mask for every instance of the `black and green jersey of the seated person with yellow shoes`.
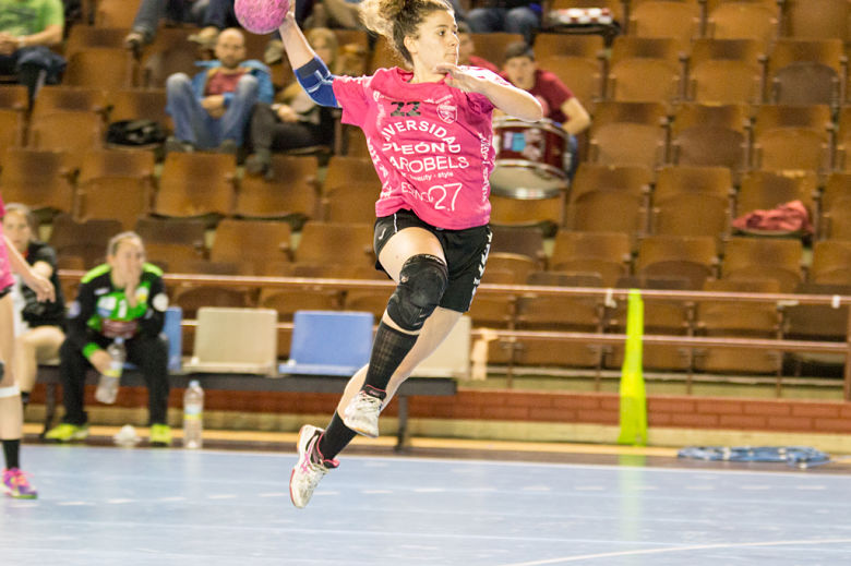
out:
{"label": "black and green jersey of the seated person with yellow shoes", "polygon": [[[168,298],[163,285],[163,272],[144,264],[134,306],[124,289],[112,284],[107,264],[88,272],[80,284],[76,300],[68,310],[68,339],[88,358],[100,346],[98,337],[132,339],[156,336],[163,330]],[[103,340],[101,340],[103,341]]]}

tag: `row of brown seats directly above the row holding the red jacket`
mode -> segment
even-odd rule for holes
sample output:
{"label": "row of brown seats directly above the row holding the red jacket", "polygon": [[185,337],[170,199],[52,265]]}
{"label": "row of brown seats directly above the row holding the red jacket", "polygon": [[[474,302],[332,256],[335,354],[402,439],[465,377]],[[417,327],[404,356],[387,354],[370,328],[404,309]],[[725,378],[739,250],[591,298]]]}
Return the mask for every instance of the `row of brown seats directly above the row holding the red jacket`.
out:
{"label": "row of brown seats directly above the row holding the red jacket", "polygon": [[586,160],[609,165],[721,166],[846,170],[851,110],[827,105],[601,103],[587,133]]}

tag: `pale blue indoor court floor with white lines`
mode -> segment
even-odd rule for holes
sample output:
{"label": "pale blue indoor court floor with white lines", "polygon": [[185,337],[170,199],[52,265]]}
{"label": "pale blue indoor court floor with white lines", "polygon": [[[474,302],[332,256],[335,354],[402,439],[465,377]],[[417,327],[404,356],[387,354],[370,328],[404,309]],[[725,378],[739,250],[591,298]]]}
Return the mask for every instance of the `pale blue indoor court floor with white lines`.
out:
{"label": "pale blue indoor court floor with white lines", "polygon": [[[844,565],[846,472],[26,445],[0,565]],[[634,462],[633,462],[634,463]]]}

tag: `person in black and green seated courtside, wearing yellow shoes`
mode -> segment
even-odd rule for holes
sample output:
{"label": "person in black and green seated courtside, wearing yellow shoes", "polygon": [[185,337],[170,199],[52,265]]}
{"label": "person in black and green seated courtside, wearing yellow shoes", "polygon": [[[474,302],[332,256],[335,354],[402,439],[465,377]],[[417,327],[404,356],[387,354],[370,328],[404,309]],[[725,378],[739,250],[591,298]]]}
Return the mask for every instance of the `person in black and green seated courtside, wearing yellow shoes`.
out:
{"label": "person in black and green seated courtside, wearing yellow shoes", "polygon": [[107,263],[88,272],[68,311],[68,338],[59,349],[59,376],[65,416],[45,435],[56,442],[88,436],[83,410],[86,372],[104,373],[111,358],[106,349],[123,338],[128,361],[144,375],[148,388],[151,444],[171,444],[167,424],[168,345],[160,336],[168,298],[163,272],[145,263],[145,249],[135,232],[121,232],[107,245]]}

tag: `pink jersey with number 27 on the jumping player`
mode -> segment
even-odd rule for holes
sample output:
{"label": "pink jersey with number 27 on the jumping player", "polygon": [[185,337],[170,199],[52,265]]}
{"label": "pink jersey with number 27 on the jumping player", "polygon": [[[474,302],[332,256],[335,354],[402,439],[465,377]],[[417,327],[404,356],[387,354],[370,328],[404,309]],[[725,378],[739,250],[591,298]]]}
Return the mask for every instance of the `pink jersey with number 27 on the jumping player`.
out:
{"label": "pink jersey with number 27 on the jumping player", "polygon": [[[483,69],[465,68],[505,83]],[[440,81],[416,83],[398,68],[372,76],[337,76],[334,95],[343,121],[363,130],[381,179],[375,214],[413,210],[438,228],[460,230],[488,224],[495,149],[493,105]]]}

